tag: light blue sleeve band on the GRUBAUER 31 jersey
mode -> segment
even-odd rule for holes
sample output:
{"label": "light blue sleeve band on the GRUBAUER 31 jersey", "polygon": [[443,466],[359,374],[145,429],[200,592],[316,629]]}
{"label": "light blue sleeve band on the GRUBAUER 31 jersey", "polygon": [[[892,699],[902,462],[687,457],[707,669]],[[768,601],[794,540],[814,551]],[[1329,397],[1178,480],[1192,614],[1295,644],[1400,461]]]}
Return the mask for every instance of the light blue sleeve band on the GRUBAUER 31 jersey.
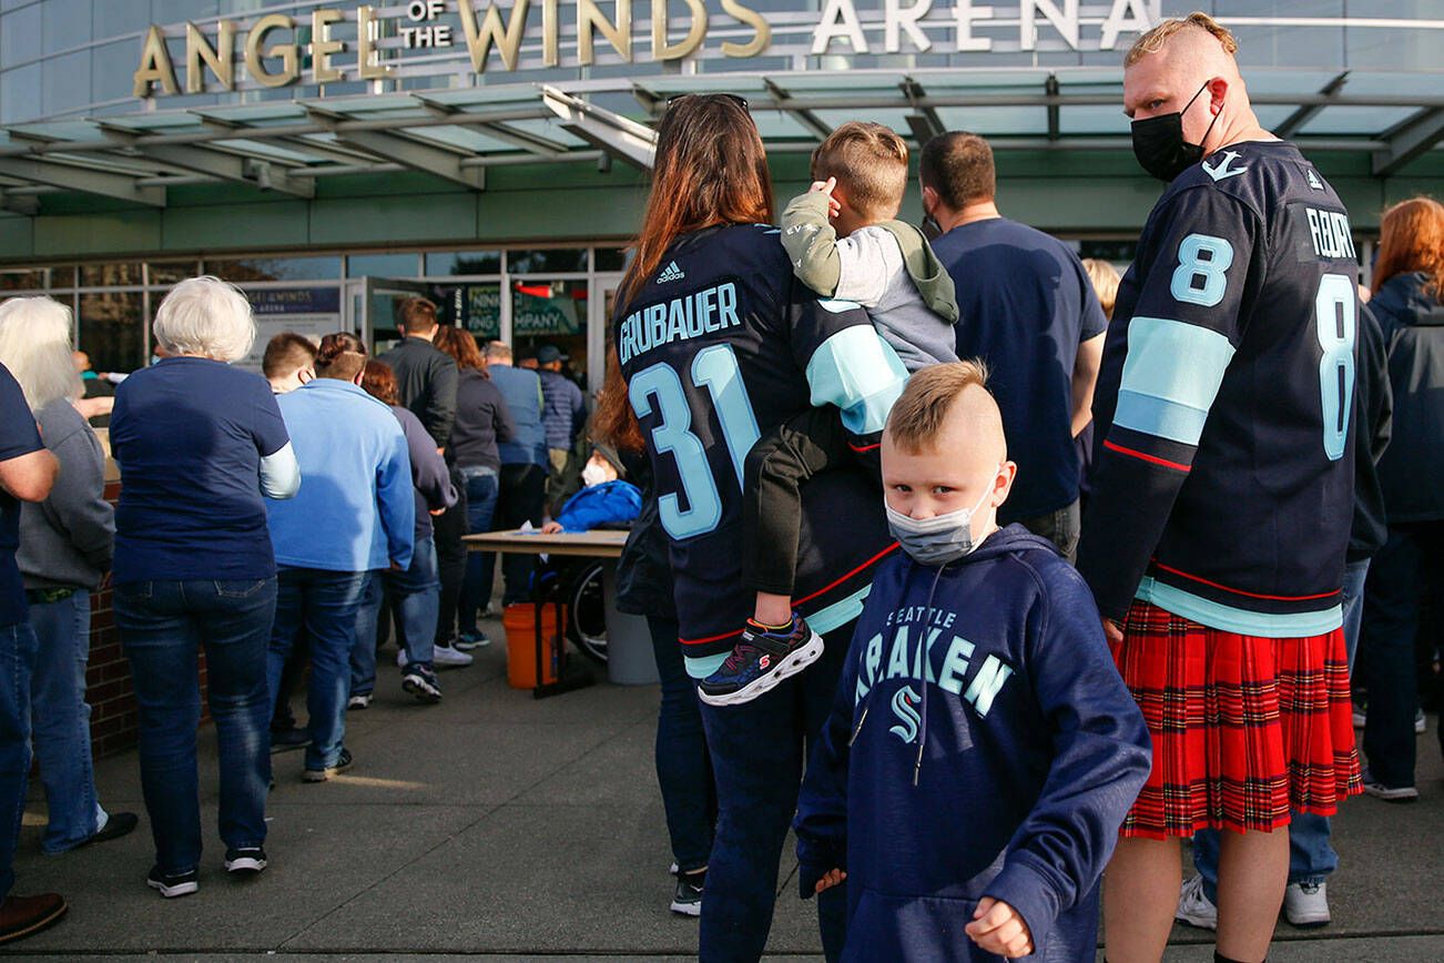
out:
{"label": "light blue sleeve band on the GRUBAUER 31 jersey", "polygon": [[838,406],[843,427],[853,435],[881,432],[905,383],[907,368],[872,325],[839,331],[807,361],[812,403]]}

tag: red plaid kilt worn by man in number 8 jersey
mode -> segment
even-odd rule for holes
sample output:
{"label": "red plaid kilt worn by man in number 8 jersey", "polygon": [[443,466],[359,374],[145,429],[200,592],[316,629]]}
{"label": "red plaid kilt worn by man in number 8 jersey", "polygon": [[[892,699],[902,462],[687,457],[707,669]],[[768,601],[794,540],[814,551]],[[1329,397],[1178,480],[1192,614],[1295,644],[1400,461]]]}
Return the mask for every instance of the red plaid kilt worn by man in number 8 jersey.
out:
{"label": "red plaid kilt worn by man in number 8 jersey", "polygon": [[1154,741],[1123,836],[1272,830],[1363,788],[1343,629],[1238,635],[1135,601],[1113,661]]}

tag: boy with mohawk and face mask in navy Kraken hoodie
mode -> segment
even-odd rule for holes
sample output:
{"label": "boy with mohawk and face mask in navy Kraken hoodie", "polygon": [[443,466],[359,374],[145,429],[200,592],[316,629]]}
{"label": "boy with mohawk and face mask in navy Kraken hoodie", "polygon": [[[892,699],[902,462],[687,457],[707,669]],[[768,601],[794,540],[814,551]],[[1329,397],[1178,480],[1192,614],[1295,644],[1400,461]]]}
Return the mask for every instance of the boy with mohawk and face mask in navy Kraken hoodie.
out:
{"label": "boy with mohawk and face mask in navy Kraken hoodie", "polygon": [[803,898],[848,881],[843,960],[1092,963],[1097,881],[1149,741],[1079,575],[998,528],[1017,466],[975,362],[882,436],[885,563],[797,807]]}

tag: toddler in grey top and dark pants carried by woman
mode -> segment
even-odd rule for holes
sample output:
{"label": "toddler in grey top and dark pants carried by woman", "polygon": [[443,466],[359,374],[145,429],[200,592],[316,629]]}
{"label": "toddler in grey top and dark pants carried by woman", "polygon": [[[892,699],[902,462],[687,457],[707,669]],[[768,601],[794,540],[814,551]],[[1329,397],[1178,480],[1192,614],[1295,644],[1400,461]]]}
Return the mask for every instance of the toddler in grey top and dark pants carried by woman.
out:
{"label": "toddler in grey top and dark pants carried by woman", "polygon": [[[783,212],[783,247],[797,279],[868,310],[908,371],[956,361],[953,280],[927,238],[895,219],[907,188],[907,144],[882,124],[852,121],[812,157],[812,191]],[[848,344],[833,345],[845,352]],[[751,450],[742,498],[742,578],[752,618],[728,660],[699,686],[713,706],[751,702],[822,654],[822,638],[793,612],[801,485],[861,459],[877,474],[878,437],[853,435],[832,407],[813,407]]]}

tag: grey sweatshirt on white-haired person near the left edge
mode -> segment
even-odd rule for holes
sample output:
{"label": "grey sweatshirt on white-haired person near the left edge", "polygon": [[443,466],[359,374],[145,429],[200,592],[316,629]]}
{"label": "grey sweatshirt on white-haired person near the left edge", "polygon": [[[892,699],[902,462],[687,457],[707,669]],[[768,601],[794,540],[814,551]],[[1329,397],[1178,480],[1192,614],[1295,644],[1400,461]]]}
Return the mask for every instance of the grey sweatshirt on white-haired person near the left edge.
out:
{"label": "grey sweatshirt on white-haired person near the left edge", "polygon": [[27,589],[98,589],[110,572],[116,510],[105,501],[105,452],[66,398],[42,407],[40,437],[61,462],[51,497],[20,507],[16,562]]}

